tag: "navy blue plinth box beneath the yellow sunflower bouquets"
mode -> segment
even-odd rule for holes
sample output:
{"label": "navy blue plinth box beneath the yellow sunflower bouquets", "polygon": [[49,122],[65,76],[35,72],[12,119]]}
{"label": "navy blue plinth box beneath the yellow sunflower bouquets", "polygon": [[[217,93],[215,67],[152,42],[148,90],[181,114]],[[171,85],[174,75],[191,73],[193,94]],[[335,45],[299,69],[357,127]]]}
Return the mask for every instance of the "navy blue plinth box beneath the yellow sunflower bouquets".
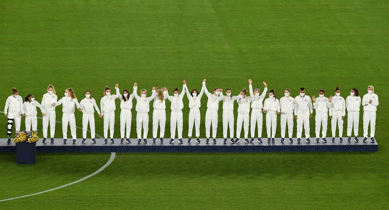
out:
{"label": "navy blue plinth box beneath the yellow sunflower bouquets", "polygon": [[36,143],[27,141],[16,143],[16,162],[18,164],[33,164],[36,156]]}

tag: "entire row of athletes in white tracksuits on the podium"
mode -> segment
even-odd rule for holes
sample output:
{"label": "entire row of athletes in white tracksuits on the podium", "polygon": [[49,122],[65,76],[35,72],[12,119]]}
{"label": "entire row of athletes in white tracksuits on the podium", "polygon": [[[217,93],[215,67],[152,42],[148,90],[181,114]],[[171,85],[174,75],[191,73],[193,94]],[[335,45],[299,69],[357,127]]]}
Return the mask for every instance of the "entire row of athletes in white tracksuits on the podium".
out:
{"label": "entire row of athletes in white tracksuits on the podium", "polygon": [[[176,129],[178,131],[178,141],[183,143],[182,131],[183,131],[183,114],[182,109],[183,98],[186,94],[189,100],[189,131],[188,131],[188,143],[192,142],[193,127],[195,126],[195,137],[196,142],[200,143],[200,107],[201,97],[205,93],[208,97],[207,110],[205,114],[205,135],[206,144],[209,143],[212,127],[212,138],[213,143],[216,142],[216,134],[218,127],[218,110],[219,102],[223,102],[223,143],[227,142],[227,131],[230,131],[230,142],[237,143],[240,141],[240,135],[242,126],[244,130],[244,141],[246,143],[253,143],[257,139],[258,142],[262,143],[262,119],[263,114],[266,113],[266,130],[267,130],[267,142],[275,143],[275,133],[277,129],[277,116],[280,114],[280,127],[281,127],[281,143],[285,141],[286,126],[288,127],[288,140],[293,143],[293,126],[294,120],[297,121],[297,142],[301,142],[303,127],[305,130],[306,142],[310,143],[309,136],[309,118],[312,117],[313,109],[316,110],[315,116],[315,134],[316,142],[320,141],[320,130],[322,130],[322,141],[327,142],[327,122],[328,116],[332,122],[332,142],[335,141],[336,126],[339,132],[339,141],[343,142],[343,120],[348,112],[347,118],[347,141],[351,141],[351,134],[354,127],[354,140],[358,139],[358,128],[359,128],[359,114],[360,106],[363,106],[363,142],[368,139],[368,126],[370,124],[370,140],[374,142],[375,133],[375,121],[376,121],[376,110],[379,105],[378,96],[374,93],[374,87],[368,86],[367,93],[361,97],[359,96],[358,89],[353,88],[350,95],[346,100],[340,96],[339,87],[335,87],[334,96],[327,98],[325,96],[324,89],[319,90],[319,97],[311,97],[305,95],[305,89],[300,88],[300,94],[295,98],[290,96],[290,90],[285,89],[284,96],[278,100],[275,91],[272,89],[269,91],[269,97],[265,99],[267,93],[267,84],[263,82],[264,90],[260,94],[260,89],[252,88],[252,80],[249,79],[249,91],[244,88],[240,91],[237,96],[231,95],[231,89],[227,88],[225,96],[222,94],[222,89],[214,88],[212,93],[208,91],[206,87],[206,79],[202,82],[201,91],[198,92],[196,89],[189,91],[186,81],[183,80],[183,89],[180,93],[178,88],[173,90],[173,95],[169,95],[167,88],[153,87],[152,94],[150,97],[146,96],[147,91],[141,89],[140,96],[137,94],[138,85],[134,83],[133,93],[125,89],[120,93],[119,84],[115,85],[116,94],[111,94],[109,86],[104,88],[104,96],[100,101],[100,109],[96,104],[94,98],[91,97],[89,90],[85,91],[85,98],[79,103],[74,90],[67,88],[64,93],[64,97],[57,101],[56,91],[53,84],[50,84],[47,88],[47,93],[43,95],[42,104],[35,101],[33,95],[28,95],[25,102],[22,103],[22,98],[19,96],[18,91],[13,88],[13,95],[9,96],[6,100],[4,113],[7,117],[7,135],[8,143],[10,143],[10,136],[12,132],[12,125],[15,122],[16,131],[20,130],[21,117],[26,115],[26,131],[37,130],[37,111],[36,107],[39,107],[43,115],[43,143],[47,141],[48,126],[50,124],[51,131],[51,142],[54,143],[55,134],[55,122],[56,122],[56,110],[55,107],[62,105],[62,132],[63,142],[67,142],[67,129],[70,125],[71,135],[73,143],[76,143],[76,120],[74,116],[75,107],[83,112],[83,140],[86,141],[86,131],[89,124],[92,142],[96,143],[95,140],[95,123],[94,123],[94,111],[96,110],[100,117],[104,118],[104,143],[108,143],[108,131],[110,130],[110,142],[114,143],[114,122],[115,122],[115,99],[120,100],[120,143],[124,141],[130,142],[131,132],[131,121],[133,108],[132,100],[135,98],[137,101],[136,105],[136,124],[137,124],[137,137],[138,143],[147,143],[148,133],[148,121],[149,121],[149,103],[153,102],[153,142],[157,139],[158,127],[160,128],[160,142],[164,142],[165,124],[166,124],[166,100],[171,102],[170,109],[170,141],[174,142]],[[237,117],[237,131],[236,138],[234,139],[234,102],[238,103],[238,117]],[[264,103],[263,103],[264,101]],[[313,105],[312,105],[313,101]],[[251,114],[250,113],[251,107]],[[100,112],[101,110],[101,112]],[[249,140],[249,119],[250,119],[250,134],[251,139]],[[257,127],[258,136],[255,137],[255,128]],[[141,131],[143,128],[143,136]]]}

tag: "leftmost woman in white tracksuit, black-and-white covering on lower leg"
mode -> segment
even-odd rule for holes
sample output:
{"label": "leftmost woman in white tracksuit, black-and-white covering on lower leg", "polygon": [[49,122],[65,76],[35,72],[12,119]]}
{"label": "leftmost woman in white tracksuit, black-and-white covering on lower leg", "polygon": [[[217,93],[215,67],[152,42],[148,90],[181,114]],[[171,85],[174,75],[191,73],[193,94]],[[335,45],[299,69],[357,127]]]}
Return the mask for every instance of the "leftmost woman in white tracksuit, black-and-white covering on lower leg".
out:
{"label": "leftmost woman in white tracksuit, black-and-white covering on lower leg", "polygon": [[16,132],[20,131],[20,124],[24,113],[23,99],[19,96],[18,90],[12,88],[12,96],[5,101],[4,116],[7,118],[7,144],[11,143],[12,125],[15,121]]}

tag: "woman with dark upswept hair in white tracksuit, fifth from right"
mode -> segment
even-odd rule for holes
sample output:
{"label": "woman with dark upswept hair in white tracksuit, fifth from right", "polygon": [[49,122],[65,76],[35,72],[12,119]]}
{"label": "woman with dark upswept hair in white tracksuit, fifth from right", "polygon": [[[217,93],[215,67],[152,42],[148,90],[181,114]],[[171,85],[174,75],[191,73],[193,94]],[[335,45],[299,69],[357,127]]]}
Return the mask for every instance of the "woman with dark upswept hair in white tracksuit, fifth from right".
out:
{"label": "woman with dark upswept hair in white tracksuit, fifth from right", "polygon": [[295,118],[297,120],[297,143],[301,143],[303,126],[305,130],[306,143],[309,140],[309,118],[312,117],[313,109],[310,97],[305,94],[305,88],[300,88],[300,95],[295,98],[294,107]]}

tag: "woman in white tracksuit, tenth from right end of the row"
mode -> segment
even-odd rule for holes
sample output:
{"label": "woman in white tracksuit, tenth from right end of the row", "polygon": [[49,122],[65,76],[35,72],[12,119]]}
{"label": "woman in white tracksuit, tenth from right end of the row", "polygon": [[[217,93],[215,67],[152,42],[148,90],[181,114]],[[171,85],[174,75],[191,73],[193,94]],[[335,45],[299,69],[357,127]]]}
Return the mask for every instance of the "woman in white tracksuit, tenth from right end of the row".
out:
{"label": "woman in white tracksuit, tenth from right end of the row", "polygon": [[230,129],[230,141],[232,142],[234,140],[234,102],[239,98],[238,96],[231,96],[231,89],[227,88],[225,90],[225,95],[222,95],[221,92],[222,101],[223,101],[223,144],[227,143],[227,131],[228,131],[228,125]]}

